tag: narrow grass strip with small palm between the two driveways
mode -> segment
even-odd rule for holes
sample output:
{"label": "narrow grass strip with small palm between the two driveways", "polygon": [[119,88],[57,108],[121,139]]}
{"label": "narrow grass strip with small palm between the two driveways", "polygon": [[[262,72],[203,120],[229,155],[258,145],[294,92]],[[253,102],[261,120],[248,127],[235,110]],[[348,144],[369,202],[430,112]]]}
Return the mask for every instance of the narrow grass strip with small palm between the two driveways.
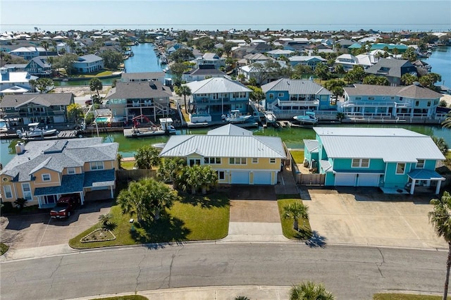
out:
{"label": "narrow grass strip with small palm between the two driveways", "polygon": [[277,205],[280,214],[280,223],[282,224],[282,232],[288,239],[309,239],[311,237],[311,227],[309,219],[299,219],[299,231],[293,229],[293,220],[283,218],[283,208],[295,201],[302,201],[299,195],[278,195]]}

